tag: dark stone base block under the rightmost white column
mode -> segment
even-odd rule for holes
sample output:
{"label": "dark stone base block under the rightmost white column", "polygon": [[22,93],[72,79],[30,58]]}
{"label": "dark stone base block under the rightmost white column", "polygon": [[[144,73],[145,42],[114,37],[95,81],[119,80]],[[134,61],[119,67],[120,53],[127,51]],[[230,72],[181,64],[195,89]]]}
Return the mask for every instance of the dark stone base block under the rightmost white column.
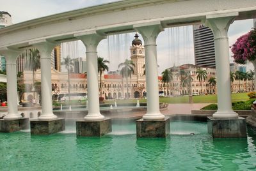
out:
{"label": "dark stone base block under the rightmost white column", "polygon": [[231,119],[215,119],[207,117],[208,133],[212,138],[247,137],[246,120],[243,117]]}

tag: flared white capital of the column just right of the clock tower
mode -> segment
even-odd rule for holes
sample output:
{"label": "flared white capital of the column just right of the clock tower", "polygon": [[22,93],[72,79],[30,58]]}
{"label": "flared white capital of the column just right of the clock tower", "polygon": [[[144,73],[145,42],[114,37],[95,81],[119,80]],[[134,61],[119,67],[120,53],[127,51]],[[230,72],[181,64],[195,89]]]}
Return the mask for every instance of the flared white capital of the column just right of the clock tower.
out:
{"label": "flared white capital of the column just right of the clock tower", "polygon": [[145,24],[136,24],[133,26],[138,31],[144,40],[145,46],[156,45],[156,38],[161,31],[164,31],[161,22],[152,22]]}

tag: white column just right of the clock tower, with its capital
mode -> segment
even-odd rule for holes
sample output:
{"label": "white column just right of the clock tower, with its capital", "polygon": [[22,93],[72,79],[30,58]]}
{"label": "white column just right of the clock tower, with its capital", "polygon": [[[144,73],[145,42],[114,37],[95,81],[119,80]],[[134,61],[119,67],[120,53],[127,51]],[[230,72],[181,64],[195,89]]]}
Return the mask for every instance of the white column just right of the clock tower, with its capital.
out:
{"label": "white column just right of the clock tower, with its capital", "polygon": [[146,83],[147,83],[147,113],[143,119],[164,119],[159,110],[159,87],[157,71],[156,38],[163,31],[160,23],[148,25],[136,25],[136,30],[142,35],[145,47]]}

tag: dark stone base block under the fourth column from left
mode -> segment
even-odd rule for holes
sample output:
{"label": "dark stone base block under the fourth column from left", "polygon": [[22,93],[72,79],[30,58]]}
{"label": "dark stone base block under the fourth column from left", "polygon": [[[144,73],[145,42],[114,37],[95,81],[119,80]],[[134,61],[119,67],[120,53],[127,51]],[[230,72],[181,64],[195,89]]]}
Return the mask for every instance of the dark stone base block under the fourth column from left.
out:
{"label": "dark stone base block under the fourth column from left", "polygon": [[136,121],[137,138],[166,138],[170,134],[170,117],[163,120]]}

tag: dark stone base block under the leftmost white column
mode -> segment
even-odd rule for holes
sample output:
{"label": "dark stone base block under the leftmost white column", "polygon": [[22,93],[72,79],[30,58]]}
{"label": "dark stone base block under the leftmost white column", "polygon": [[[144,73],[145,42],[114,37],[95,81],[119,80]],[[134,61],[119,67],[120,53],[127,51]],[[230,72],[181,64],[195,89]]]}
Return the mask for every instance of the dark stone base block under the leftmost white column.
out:
{"label": "dark stone base block under the leftmost white column", "polygon": [[27,130],[29,129],[29,119],[13,119],[5,120],[0,119],[0,132],[12,133],[14,131]]}

